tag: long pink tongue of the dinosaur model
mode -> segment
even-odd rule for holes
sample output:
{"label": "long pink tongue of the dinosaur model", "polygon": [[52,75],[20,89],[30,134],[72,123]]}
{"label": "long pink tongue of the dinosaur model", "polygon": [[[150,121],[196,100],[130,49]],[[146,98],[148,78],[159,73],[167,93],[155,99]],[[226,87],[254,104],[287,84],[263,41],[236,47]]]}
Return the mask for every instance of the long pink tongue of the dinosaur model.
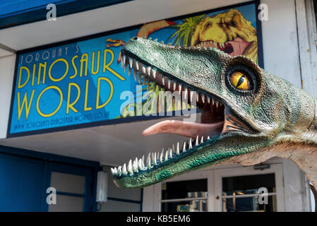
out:
{"label": "long pink tongue of the dinosaur model", "polygon": [[142,133],[143,136],[148,136],[156,133],[174,133],[181,136],[187,136],[196,138],[205,136],[217,136],[221,133],[223,121],[213,124],[199,124],[186,121],[165,120],[160,121],[148,129],[145,129]]}

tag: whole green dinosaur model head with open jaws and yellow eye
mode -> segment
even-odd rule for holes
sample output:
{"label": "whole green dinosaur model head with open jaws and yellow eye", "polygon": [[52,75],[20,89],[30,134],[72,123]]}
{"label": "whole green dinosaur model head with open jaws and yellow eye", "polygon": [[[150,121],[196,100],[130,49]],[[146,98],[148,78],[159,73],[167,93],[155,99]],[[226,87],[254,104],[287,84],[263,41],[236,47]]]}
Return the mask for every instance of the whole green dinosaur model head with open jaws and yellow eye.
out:
{"label": "whole green dinosaur model head with open jaws and yellow eye", "polygon": [[[112,169],[122,188],[149,186],[194,169],[225,163],[255,165],[290,158],[316,186],[316,99],[244,56],[211,47],[175,47],[134,37],[122,63],[145,79],[188,95],[197,93],[201,122],[162,121],[143,131],[189,137],[166,153]],[[172,145],[172,144],[171,144]],[[300,150],[297,152],[296,150]],[[155,152],[151,154],[151,152]]]}

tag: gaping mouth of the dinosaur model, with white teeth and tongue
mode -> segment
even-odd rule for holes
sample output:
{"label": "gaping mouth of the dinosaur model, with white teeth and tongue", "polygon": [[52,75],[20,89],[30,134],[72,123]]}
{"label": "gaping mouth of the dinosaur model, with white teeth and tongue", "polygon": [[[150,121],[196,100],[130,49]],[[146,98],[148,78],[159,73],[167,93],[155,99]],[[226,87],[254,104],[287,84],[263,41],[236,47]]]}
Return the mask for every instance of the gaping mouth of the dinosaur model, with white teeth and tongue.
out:
{"label": "gaping mouth of the dinosaur model, with white teeth and tongue", "polygon": [[227,125],[225,105],[222,100],[219,100],[219,97],[205,93],[164,71],[160,71],[160,69],[156,69],[130,52],[121,52],[121,66],[124,66],[124,71],[128,69],[129,76],[133,70],[134,79],[140,84],[146,83],[149,87],[150,82],[152,82],[155,88],[179,92],[181,96],[187,97],[182,100],[183,102],[196,100],[196,106],[201,111],[201,122],[165,120],[145,129],[143,131],[144,136],[156,133],[174,133],[186,136],[189,139],[184,143],[177,142],[172,144],[170,148],[163,148],[158,153],[149,153],[146,161],[143,155],[140,159],[136,157],[135,160],[130,160],[128,164],[125,163],[123,166],[112,168],[114,177],[135,177],[144,172],[176,162],[181,157],[190,155],[193,151],[198,150],[200,146],[205,145],[210,139],[220,136],[225,131],[225,125]]}

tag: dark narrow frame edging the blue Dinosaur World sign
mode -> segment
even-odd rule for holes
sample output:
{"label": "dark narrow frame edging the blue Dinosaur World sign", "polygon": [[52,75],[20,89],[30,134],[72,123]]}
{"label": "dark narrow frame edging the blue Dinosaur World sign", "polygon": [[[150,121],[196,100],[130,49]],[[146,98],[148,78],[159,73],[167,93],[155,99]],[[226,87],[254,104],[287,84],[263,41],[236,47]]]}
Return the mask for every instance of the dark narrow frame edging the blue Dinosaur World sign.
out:
{"label": "dark narrow frame edging the blue Dinosaur World sign", "polygon": [[[233,8],[233,7],[239,7],[239,6],[246,6],[246,5],[251,5],[254,4],[255,6],[255,11],[256,11],[256,34],[257,34],[257,40],[258,40],[258,65],[261,68],[264,68],[264,63],[263,63],[263,42],[262,42],[262,28],[261,28],[261,20],[258,19],[258,13],[260,13],[260,10],[258,9],[258,6],[260,4],[259,0],[255,1],[247,1],[241,4],[234,4],[230,6],[224,6],[220,8],[213,8],[209,9],[206,11],[200,11],[196,13],[190,13],[182,16],[177,16],[173,18],[162,18],[162,20],[181,20],[183,18],[189,18],[193,16],[198,16],[201,14],[207,14],[207,13],[213,13],[216,11],[223,11],[228,8]],[[106,32],[100,32],[97,34],[93,35],[86,35],[83,37],[77,37],[71,40],[66,40],[62,42],[54,42],[52,44],[44,44],[39,47],[32,47],[29,49],[23,49],[19,50],[16,52],[16,64],[15,64],[15,69],[14,69],[14,78],[13,78],[13,88],[12,88],[12,94],[11,94],[11,105],[10,105],[10,113],[9,113],[9,118],[8,118],[8,127],[7,127],[7,138],[13,138],[13,137],[20,137],[20,136],[30,136],[30,135],[36,135],[36,134],[41,134],[41,133],[52,133],[52,132],[58,132],[58,131],[68,131],[68,130],[73,130],[73,129],[83,129],[87,127],[94,127],[94,126],[106,126],[106,125],[112,125],[112,124],[123,124],[123,123],[129,123],[129,122],[136,122],[136,121],[145,121],[145,120],[152,120],[152,119],[162,119],[162,118],[167,118],[167,117],[173,117],[179,114],[176,114],[178,112],[172,112],[172,116],[133,116],[133,117],[124,117],[124,118],[119,118],[119,119],[107,119],[107,120],[102,120],[102,121],[93,121],[93,122],[87,122],[87,123],[82,123],[82,124],[74,124],[74,125],[68,125],[68,126],[59,126],[59,127],[54,127],[54,128],[49,128],[49,129],[38,129],[38,130],[33,130],[33,131],[23,131],[23,132],[18,132],[18,133],[11,133],[11,120],[12,120],[12,113],[13,113],[13,104],[15,100],[15,94],[16,94],[16,82],[18,78],[18,63],[19,63],[19,57],[20,54],[26,54],[29,52],[35,52],[39,51],[42,49],[48,49],[52,47],[59,47],[64,44],[71,44],[73,42],[80,42],[84,40],[91,40],[96,37],[102,37],[106,35],[114,35],[119,32],[124,32],[127,30],[133,30],[133,29],[138,29],[142,26],[143,24],[139,25],[132,25],[128,26],[126,28],[119,28],[116,30],[109,30]]]}

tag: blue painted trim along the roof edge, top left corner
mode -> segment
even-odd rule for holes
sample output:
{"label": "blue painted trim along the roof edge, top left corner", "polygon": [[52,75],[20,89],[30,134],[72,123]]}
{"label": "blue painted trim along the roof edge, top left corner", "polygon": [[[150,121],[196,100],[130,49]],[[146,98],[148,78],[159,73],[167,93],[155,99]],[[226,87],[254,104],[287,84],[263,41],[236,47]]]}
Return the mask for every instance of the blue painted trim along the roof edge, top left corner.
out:
{"label": "blue painted trim along the roof edge, top left corner", "polygon": [[[66,16],[73,13],[80,13],[83,11],[92,10],[95,8],[112,6],[114,4],[121,4],[127,1],[133,0],[66,0],[58,1],[56,5],[57,20],[59,16]],[[28,8],[22,11],[16,11],[12,13],[6,13],[0,16],[0,29],[10,28],[17,25],[23,25],[26,23],[33,23],[40,20],[46,20],[47,4]]]}

